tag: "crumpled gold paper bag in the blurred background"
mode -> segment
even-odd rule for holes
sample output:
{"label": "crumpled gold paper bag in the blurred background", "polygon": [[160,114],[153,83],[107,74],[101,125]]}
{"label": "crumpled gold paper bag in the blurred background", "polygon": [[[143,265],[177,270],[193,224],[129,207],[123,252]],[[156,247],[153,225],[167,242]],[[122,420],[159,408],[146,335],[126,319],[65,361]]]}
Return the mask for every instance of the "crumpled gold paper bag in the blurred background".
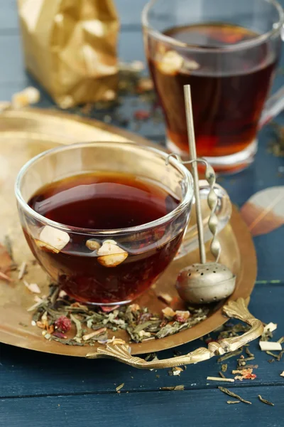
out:
{"label": "crumpled gold paper bag in the blurred background", "polygon": [[18,0],[26,68],[68,108],[110,99],[119,21],[113,0]]}

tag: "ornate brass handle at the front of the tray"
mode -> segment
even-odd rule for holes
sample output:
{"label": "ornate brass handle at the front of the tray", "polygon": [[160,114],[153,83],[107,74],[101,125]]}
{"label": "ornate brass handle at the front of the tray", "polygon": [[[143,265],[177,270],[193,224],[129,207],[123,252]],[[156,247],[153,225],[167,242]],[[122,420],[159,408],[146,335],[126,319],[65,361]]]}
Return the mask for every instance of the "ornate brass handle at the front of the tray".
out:
{"label": "ornate brass handle at the front of the tray", "polygon": [[225,338],[219,342],[210,342],[208,348],[201,347],[184,356],[147,362],[141,359],[141,357],[131,356],[131,347],[129,347],[128,344],[108,344],[106,347],[99,347],[95,353],[88,353],[86,357],[88,359],[114,359],[138,369],[163,369],[198,363],[214,356],[234,352],[234,350],[239,349],[239,347],[242,347],[244,344],[260,337],[263,333],[263,324],[261,320],[251,315],[246,307],[247,304],[249,304],[249,298],[247,300],[239,298],[239,300],[236,301],[229,301],[224,305],[223,312],[228,317],[239,319],[247,323],[251,326],[251,330],[245,332],[240,337]]}

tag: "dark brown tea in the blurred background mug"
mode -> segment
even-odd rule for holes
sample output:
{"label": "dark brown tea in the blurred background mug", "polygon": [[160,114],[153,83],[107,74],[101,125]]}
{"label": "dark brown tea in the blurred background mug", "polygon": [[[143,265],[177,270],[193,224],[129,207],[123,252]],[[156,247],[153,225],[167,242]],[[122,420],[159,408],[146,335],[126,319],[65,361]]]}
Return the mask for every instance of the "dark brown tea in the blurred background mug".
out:
{"label": "dark brown tea in the blurred background mug", "polygon": [[183,86],[190,84],[197,154],[222,157],[246,149],[256,138],[275,69],[269,43],[226,52],[226,46],[258,34],[224,23],[170,28],[165,35],[200,48],[169,51],[168,44],[148,36],[149,67],[170,141],[188,151]]}

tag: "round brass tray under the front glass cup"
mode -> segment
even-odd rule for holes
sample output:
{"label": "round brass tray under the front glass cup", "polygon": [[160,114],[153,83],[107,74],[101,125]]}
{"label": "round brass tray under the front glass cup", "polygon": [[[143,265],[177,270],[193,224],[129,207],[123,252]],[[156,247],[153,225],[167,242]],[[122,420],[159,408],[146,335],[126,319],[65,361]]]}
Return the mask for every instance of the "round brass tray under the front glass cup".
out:
{"label": "round brass tray under the front glass cup", "polygon": [[[119,140],[121,142],[132,140],[138,144],[154,145],[138,135],[104,125],[96,120],[85,120],[58,112],[33,109],[7,111],[0,115],[0,243],[3,244],[4,236],[9,235],[13,243],[13,257],[16,263],[20,265],[24,260],[29,264],[25,279],[28,283],[38,283],[43,295],[48,293],[47,278],[38,265],[31,265],[33,255],[31,255],[23,237],[18,221],[16,200],[13,196],[14,180],[21,166],[35,154],[58,144],[94,140]],[[221,262],[228,265],[237,275],[236,290],[229,297],[229,302],[226,302],[225,309],[224,302],[221,302],[214,307],[206,320],[191,329],[163,339],[131,344],[131,355],[158,352],[202,337],[226,322],[227,318],[223,315],[223,310],[226,311],[227,315],[239,317],[245,322],[250,322],[250,319],[253,319],[253,330],[247,333],[249,334],[247,337],[246,334],[243,336],[243,341],[239,340],[233,345],[229,344],[229,340],[227,340],[228,342],[223,345],[224,348],[218,344],[219,349],[212,346],[211,349],[203,349],[198,354],[199,360],[230,351],[239,347],[241,342],[247,342],[261,334],[261,322],[250,317],[244,303],[244,300],[251,295],[256,280],[256,254],[250,233],[235,207],[231,221],[219,233],[219,240],[222,245]],[[173,308],[181,308],[182,302],[178,299],[173,284],[180,268],[197,260],[197,251],[175,260],[154,287],[138,299],[138,304],[149,307],[152,312],[160,312],[165,304],[158,299],[157,295],[160,292],[167,292],[175,297]],[[27,312],[27,308],[34,303],[34,294],[27,290],[23,283],[17,279],[17,276],[18,273],[11,272],[13,283],[9,284],[0,280],[0,342],[40,352],[77,357],[86,357],[89,352],[92,352],[95,354],[88,357],[114,357],[136,367],[149,367],[148,364],[146,366],[143,359],[133,358],[129,354],[127,345],[108,346],[99,349],[97,352],[99,345],[97,347],[72,347],[44,339],[41,330],[31,326],[31,312]],[[239,301],[234,302],[237,299]],[[228,304],[231,308],[228,308]],[[128,340],[126,332],[117,332],[116,337],[125,341]],[[167,366],[178,364],[178,359],[175,358],[175,362],[170,362],[171,359],[169,359]],[[199,360],[196,359],[196,356],[190,357],[180,364],[198,362]]]}

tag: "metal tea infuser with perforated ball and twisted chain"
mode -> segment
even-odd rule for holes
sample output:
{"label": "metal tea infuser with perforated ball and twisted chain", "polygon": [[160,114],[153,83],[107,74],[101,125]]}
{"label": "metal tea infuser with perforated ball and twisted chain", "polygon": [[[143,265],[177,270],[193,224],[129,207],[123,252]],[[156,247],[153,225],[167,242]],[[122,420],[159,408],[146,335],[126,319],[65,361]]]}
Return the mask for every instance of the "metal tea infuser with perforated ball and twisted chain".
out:
{"label": "metal tea infuser with perforated ball and twisted chain", "polygon": [[[234,292],[236,285],[236,276],[229,268],[226,267],[226,265],[218,263],[221,253],[221,246],[217,238],[218,219],[217,215],[215,214],[218,203],[217,195],[214,192],[216,175],[214,169],[205,159],[197,158],[190,85],[185,85],[184,90],[187,117],[187,134],[190,146],[190,161],[182,162],[182,164],[192,164],[192,176],[195,191],[195,209],[200,248],[200,263],[189,265],[180,271],[176,288],[182,300],[200,304],[219,301],[231,295],[231,293]],[[207,202],[209,208],[211,209],[211,214],[209,216],[208,226],[213,235],[210,251],[212,255],[214,255],[214,263],[206,262],[197,162],[202,162],[205,164],[205,177],[210,186]]]}

